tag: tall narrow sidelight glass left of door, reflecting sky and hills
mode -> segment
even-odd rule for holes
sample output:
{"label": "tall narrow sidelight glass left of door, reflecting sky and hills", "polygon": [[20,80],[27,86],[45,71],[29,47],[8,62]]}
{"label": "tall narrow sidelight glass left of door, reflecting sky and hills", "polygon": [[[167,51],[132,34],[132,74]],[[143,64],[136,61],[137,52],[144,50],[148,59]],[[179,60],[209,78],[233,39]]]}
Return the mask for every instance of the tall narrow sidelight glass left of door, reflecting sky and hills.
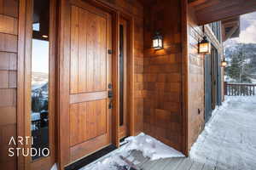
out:
{"label": "tall narrow sidelight glass left of door, reflecting sky and hills", "polygon": [[49,148],[49,0],[33,0],[31,74],[32,148],[43,150]]}

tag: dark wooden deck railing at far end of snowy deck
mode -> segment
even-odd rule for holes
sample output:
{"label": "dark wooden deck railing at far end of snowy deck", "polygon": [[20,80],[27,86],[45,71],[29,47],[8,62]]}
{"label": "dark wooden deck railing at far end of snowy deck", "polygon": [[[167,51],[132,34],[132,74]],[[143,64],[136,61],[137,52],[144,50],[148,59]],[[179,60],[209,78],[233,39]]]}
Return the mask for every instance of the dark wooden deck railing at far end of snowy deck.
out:
{"label": "dark wooden deck railing at far end of snowy deck", "polygon": [[229,96],[252,96],[256,94],[256,84],[224,82],[224,94]]}

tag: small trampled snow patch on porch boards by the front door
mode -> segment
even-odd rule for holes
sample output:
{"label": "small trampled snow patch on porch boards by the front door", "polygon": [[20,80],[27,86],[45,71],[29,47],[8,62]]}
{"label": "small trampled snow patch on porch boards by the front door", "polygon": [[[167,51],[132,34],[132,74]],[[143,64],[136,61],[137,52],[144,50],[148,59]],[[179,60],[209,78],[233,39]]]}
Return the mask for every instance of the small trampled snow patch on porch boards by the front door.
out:
{"label": "small trampled snow patch on porch boards by the front door", "polygon": [[142,151],[143,156],[152,161],[160,158],[184,157],[179,151],[144,133],[125,139],[125,143],[127,144],[124,144],[118,150],[114,150],[107,156],[92,162],[86,167],[82,167],[80,170],[117,170],[118,166],[126,165],[126,162],[120,156],[124,156],[128,161],[137,165],[140,162],[131,156],[132,150]]}

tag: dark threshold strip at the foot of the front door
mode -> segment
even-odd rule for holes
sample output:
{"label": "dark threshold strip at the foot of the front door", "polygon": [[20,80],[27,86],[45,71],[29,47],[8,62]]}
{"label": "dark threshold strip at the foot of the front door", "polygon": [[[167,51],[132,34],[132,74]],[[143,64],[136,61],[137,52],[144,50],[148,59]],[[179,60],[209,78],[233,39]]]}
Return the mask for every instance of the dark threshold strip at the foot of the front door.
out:
{"label": "dark threshold strip at the foot of the front door", "polygon": [[79,161],[73,162],[71,165],[65,167],[65,170],[77,170],[79,168],[85,167],[89,165],[91,162],[98,160],[102,156],[106,156],[109,152],[116,150],[117,147],[113,144],[103,148],[102,150],[98,150],[95,153],[91,154],[90,156],[86,156]]}

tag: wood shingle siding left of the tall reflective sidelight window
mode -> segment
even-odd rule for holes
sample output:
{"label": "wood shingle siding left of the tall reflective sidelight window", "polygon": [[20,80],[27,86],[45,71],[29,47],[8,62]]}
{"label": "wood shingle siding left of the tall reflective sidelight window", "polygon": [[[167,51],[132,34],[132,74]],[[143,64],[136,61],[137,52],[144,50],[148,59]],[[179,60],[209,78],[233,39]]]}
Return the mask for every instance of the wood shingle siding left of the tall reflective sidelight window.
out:
{"label": "wood shingle siding left of the tall reflective sidelight window", "polygon": [[16,85],[18,48],[18,1],[0,0],[0,167],[16,169],[8,156],[9,139],[16,137]]}

